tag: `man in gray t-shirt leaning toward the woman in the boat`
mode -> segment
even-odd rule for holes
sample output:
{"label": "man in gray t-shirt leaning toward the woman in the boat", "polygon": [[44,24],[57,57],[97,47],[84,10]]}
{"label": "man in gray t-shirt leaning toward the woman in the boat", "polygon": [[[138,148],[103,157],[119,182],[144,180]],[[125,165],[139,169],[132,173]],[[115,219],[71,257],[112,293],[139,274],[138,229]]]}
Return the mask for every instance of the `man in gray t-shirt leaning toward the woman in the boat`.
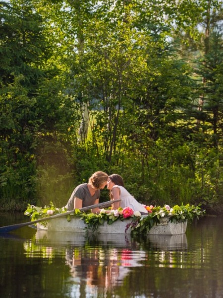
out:
{"label": "man in gray t-shirt leaning toward the woman in the boat", "polygon": [[[100,189],[103,189],[108,181],[109,175],[102,172],[95,172],[88,180],[88,183],[78,185],[72,192],[65,208],[68,211],[80,209],[99,204]],[[99,213],[99,208],[92,209],[93,213]]]}

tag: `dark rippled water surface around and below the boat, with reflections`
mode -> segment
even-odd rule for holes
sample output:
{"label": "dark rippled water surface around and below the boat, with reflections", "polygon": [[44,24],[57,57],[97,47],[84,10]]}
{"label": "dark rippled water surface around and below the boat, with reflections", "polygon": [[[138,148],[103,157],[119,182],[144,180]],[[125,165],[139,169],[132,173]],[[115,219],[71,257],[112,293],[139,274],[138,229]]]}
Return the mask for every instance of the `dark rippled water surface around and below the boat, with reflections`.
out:
{"label": "dark rippled water surface around and below the boat, with reflections", "polygon": [[[0,214],[0,226],[28,222]],[[223,217],[185,235],[0,234],[0,298],[223,298]]]}

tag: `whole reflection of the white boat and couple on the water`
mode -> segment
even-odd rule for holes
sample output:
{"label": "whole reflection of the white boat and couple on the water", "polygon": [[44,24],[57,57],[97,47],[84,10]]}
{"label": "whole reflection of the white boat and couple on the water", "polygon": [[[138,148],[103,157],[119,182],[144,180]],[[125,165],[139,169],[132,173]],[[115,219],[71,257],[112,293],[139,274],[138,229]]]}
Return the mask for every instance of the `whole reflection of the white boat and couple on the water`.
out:
{"label": "whole reflection of the white boat and couple on the water", "polygon": [[[169,252],[187,247],[185,234],[149,235],[146,240],[132,239],[129,234],[89,234],[38,230],[32,243],[26,243],[27,257],[58,257],[69,266],[70,277],[65,281],[72,291],[80,287],[95,295],[122,285],[123,279],[135,267],[150,266],[152,258],[167,264]],[[156,251],[156,256],[154,252]],[[42,253],[41,253],[42,252]],[[155,260],[154,259],[154,260]],[[166,265],[167,266],[167,265]],[[169,261],[171,267],[171,260]]]}

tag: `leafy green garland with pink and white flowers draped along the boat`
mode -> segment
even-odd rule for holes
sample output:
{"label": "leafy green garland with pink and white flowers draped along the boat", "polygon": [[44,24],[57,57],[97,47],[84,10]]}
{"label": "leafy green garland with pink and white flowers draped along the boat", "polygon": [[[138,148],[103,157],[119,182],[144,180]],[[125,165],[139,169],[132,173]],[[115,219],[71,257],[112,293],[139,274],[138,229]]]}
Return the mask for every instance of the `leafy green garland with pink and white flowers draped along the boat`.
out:
{"label": "leafy green garland with pink and white flowers draped along the boat", "polygon": [[[130,228],[132,234],[144,234],[152,226],[159,224],[164,217],[167,217],[171,223],[181,223],[185,221],[192,222],[195,217],[199,218],[205,214],[205,211],[201,210],[200,205],[175,205],[172,208],[169,205],[165,205],[164,207],[144,205],[144,207],[148,211],[148,216],[141,216],[139,211],[134,212],[130,207],[124,209],[118,208],[117,210],[111,210],[110,208],[101,209],[100,214],[83,213],[79,209],[75,209],[73,215],[67,216],[67,220],[70,221],[71,217],[80,217],[87,225],[86,230],[94,232],[97,231],[101,224],[113,224],[117,220],[124,221],[126,219],[132,219],[130,224],[126,224],[126,230]],[[51,202],[50,206],[45,206],[44,208],[28,204],[24,214],[30,216],[31,221],[35,221],[55,214],[65,213],[66,211],[64,207],[60,209],[56,208]],[[43,224],[46,225],[47,222],[43,222]]]}

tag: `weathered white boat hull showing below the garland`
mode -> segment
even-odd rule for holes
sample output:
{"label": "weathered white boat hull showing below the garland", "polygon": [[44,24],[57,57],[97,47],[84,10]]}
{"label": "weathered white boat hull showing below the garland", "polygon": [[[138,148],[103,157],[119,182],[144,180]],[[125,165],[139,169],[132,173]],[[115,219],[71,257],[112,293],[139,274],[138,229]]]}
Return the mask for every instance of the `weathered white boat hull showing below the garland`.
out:
{"label": "weathered white boat hull showing below the garland", "polygon": [[[96,232],[99,233],[110,233],[110,234],[130,234],[131,228],[126,230],[126,225],[130,224],[132,219],[119,221],[112,224],[104,223],[100,225]],[[44,229],[48,231],[59,231],[59,232],[85,232],[87,225],[83,220],[78,218],[71,218],[68,222],[66,218],[52,219],[47,223],[47,226],[37,223],[38,229]],[[150,235],[179,235],[186,232],[187,222],[183,223],[170,223],[168,218],[162,218],[160,224],[155,224],[148,234]],[[89,232],[92,232],[89,230]]]}

